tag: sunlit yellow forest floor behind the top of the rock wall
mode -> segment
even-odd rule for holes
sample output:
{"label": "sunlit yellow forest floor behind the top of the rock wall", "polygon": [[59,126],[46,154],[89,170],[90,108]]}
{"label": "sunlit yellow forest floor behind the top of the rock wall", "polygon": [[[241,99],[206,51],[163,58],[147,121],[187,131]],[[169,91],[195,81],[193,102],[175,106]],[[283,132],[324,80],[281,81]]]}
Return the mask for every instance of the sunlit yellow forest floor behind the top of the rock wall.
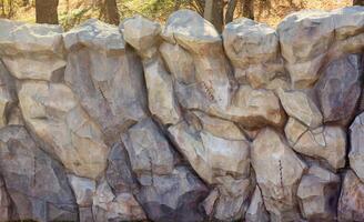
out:
{"label": "sunlit yellow forest floor behind the top of the rock wall", "polygon": [[[65,28],[73,26],[89,18],[98,18],[99,11],[92,7],[94,0],[60,0],[59,20]],[[69,3],[67,3],[69,2]],[[169,6],[161,6],[155,9],[148,9],[148,2],[151,0],[122,0],[119,3],[121,19],[140,13],[150,19],[165,21],[168,16],[173,12],[173,1]],[[164,4],[168,4],[163,1]],[[352,0],[256,0],[254,6],[255,20],[276,27],[279,22],[294,11],[303,9],[332,10],[342,7],[352,6]],[[17,9],[14,20],[34,22],[36,9],[32,6]]]}

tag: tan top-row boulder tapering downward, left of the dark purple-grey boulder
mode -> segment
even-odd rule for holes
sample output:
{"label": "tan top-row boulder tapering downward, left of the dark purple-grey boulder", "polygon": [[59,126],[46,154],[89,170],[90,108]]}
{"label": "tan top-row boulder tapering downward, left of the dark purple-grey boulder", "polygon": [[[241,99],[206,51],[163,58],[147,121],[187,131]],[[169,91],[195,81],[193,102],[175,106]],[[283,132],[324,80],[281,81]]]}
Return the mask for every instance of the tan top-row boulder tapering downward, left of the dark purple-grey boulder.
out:
{"label": "tan top-row boulder tapering downward, left of the dark purple-grey boulder", "polygon": [[328,12],[305,10],[287,16],[277,27],[282,57],[295,88],[309,88],[318,79],[318,69],[334,38]]}

